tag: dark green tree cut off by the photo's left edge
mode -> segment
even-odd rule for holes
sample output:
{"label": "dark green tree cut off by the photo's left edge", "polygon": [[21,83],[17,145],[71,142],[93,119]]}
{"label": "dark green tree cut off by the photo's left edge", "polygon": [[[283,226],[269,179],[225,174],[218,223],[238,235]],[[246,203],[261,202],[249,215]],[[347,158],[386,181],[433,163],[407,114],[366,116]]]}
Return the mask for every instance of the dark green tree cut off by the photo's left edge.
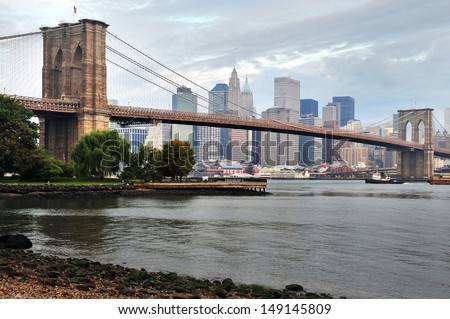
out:
{"label": "dark green tree cut off by the photo's left edge", "polygon": [[32,117],[21,102],[0,95],[0,173],[17,173],[36,151],[39,126]]}

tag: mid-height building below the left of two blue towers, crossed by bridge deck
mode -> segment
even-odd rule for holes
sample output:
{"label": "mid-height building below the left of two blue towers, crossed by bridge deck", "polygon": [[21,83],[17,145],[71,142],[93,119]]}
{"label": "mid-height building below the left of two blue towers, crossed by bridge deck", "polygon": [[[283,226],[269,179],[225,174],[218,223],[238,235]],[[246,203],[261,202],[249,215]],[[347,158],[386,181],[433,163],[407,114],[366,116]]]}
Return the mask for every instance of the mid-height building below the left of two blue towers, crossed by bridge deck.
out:
{"label": "mid-height building below the left of two blue towers, crossed by bridge deck", "polygon": [[[299,122],[304,125],[323,126],[322,119],[314,116],[313,113],[301,117]],[[322,138],[301,135],[299,137],[299,150],[300,165],[314,166],[322,163]]]}

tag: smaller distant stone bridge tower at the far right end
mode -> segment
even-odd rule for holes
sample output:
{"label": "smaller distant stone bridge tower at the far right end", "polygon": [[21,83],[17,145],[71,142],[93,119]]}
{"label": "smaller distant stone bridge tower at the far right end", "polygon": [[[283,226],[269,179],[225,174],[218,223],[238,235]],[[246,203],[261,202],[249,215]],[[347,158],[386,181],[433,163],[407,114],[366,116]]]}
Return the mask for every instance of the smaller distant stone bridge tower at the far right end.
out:
{"label": "smaller distant stone bridge tower at the far right end", "polygon": [[433,109],[398,111],[398,137],[424,145],[424,150],[398,151],[397,178],[403,181],[427,181],[434,174]]}

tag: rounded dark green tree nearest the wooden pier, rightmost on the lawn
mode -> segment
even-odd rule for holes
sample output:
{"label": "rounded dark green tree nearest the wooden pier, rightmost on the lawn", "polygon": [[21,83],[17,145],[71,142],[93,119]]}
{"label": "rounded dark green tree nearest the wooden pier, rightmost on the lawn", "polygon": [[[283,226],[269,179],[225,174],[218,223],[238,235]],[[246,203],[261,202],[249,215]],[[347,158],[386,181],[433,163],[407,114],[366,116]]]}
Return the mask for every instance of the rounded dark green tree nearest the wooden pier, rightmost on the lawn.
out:
{"label": "rounded dark green tree nearest the wooden pier, rightmost on the lawn", "polygon": [[194,150],[187,141],[173,140],[163,145],[161,153],[162,172],[172,180],[187,176],[195,165]]}

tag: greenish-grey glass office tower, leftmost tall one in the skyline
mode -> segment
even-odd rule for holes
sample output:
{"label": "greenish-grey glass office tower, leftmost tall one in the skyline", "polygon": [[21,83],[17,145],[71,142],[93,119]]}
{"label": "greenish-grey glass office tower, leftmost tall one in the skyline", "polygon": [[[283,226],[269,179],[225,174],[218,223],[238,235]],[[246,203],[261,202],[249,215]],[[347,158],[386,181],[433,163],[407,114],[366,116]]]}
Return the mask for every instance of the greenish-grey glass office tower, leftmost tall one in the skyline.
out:
{"label": "greenish-grey glass office tower, leftmost tall one in the skyline", "polygon": [[[185,86],[177,88],[177,94],[172,95],[172,110],[197,113],[197,96],[192,94],[190,88]],[[172,139],[188,141],[194,145],[193,125],[172,124]]]}

